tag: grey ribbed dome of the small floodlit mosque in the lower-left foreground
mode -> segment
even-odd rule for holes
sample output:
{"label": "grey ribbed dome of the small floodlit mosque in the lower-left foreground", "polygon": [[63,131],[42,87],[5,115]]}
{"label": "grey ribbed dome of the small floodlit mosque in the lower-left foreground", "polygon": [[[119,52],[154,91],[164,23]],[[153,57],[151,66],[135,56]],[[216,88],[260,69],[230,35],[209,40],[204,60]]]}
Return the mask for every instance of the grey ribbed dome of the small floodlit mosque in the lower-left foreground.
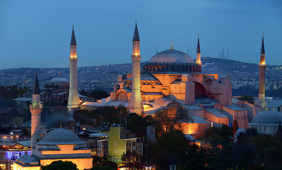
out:
{"label": "grey ribbed dome of the small floodlit mosque in the lower-left foreground", "polygon": [[47,133],[40,142],[39,145],[76,145],[84,144],[80,138],[72,131],[65,128],[58,128]]}

